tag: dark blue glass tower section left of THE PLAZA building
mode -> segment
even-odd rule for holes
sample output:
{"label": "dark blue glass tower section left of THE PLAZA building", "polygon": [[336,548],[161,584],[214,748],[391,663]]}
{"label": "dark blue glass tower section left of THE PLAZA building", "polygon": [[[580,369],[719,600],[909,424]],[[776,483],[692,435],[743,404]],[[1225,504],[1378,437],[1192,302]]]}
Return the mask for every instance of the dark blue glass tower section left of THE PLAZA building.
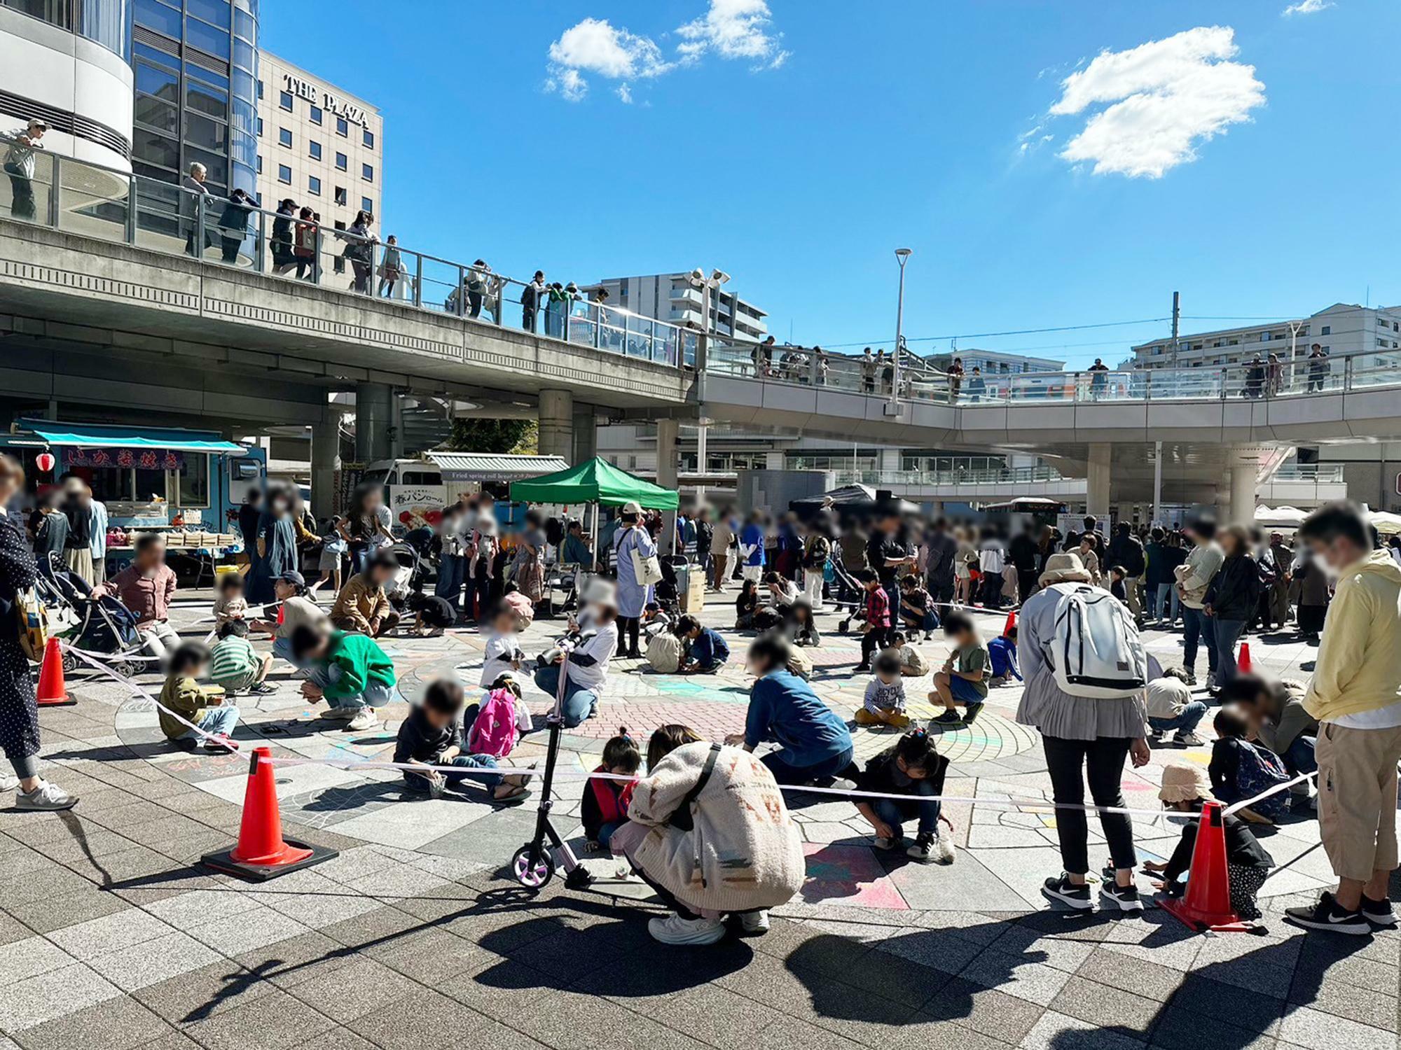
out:
{"label": "dark blue glass tower section left of THE PLAZA building", "polygon": [[132,70],[137,175],[256,190],[258,0],[133,0]]}

